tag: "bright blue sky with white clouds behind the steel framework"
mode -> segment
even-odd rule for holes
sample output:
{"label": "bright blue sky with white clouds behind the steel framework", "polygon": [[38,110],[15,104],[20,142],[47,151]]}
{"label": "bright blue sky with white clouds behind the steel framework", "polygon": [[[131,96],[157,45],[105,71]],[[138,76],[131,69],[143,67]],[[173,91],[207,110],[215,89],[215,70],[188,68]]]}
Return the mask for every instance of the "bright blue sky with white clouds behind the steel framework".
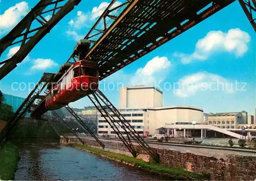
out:
{"label": "bright blue sky with white clouds behind the steel framework", "polygon": [[[87,34],[109,2],[82,1],[35,46],[26,60],[0,82],[0,89],[6,94],[26,97],[29,94],[29,82],[37,82],[43,72],[57,72],[59,66],[71,55],[76,40]],[[30,0],[2,0],[0,37],[9,32],[25,15],[24,12],[28,12],[36,3],[37,1]],[[14,6],[16,9],[11,8]],[[11,20],[6,16],[8,13],[11,14]],[[1,60],[11,56],[13,52],[15,46],[12,50],[6,50]],[[21,88],[25,90],[16,90],[16,84],[12,88],[13,82],[25,82],[26,89],[24,84],[21,84]],[[113,88],[110,82],[115,85],[114,90],[110,90]],[[218,82],[219,89],[216,90]],[[104,88],[103,83],[110,88]],[[203,108],[205,112],[246,110],[254,115],[255,32],[239,3],[232,3],[106,78],[101,82],[100,88],[118,107],[117,85],[134,84],[159,86],[163,90],[164,106],[196,106]],[[227,87],[222,89],[222,85]],[[233,89],[230,89],[231,85]],[[71,105],[81,108],[91,103],[84,98]]]}

